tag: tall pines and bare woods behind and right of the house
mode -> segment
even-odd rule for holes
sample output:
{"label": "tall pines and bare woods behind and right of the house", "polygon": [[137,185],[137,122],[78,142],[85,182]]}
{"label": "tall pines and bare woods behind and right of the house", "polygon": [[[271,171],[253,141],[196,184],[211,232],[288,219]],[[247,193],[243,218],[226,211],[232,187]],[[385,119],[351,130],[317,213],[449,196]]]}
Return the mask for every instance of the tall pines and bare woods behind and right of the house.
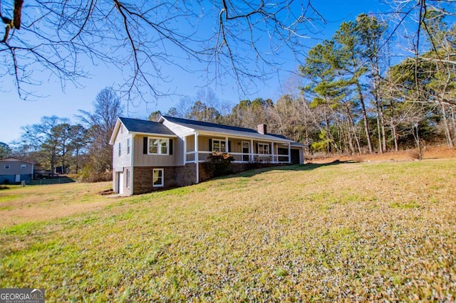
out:
{"label": "tall pines and bare woods behind and right of the house", "polygon": [[309,50],[297,84],[275,102],[242,100],[227,111],[203,91],[167,115],[249,128],[266,123],[311,153],[383,153],[423,142],[454,147],[456,27],[432,10],[420,26],[427,49],[398,61],[387,24],[361,14]]}

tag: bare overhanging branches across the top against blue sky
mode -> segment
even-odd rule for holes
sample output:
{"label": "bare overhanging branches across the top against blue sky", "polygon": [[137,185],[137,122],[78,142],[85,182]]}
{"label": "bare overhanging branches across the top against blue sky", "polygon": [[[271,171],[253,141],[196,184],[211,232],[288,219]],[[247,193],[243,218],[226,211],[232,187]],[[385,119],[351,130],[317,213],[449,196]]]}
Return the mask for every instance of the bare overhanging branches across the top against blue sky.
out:
{"label": "bare overhanging branches across the top against blue sky", "polygon": [[310,0],[16,0],[0,1],[0,12],[0,75],[24,99],[43,73],[78,85],[90,72],[83,59],[123,70],[130,98],[167,94],[168,65],[218,84],[234,78],[243,90],[279,68],[282,52],[301,58],[302,38],[323,21]]}

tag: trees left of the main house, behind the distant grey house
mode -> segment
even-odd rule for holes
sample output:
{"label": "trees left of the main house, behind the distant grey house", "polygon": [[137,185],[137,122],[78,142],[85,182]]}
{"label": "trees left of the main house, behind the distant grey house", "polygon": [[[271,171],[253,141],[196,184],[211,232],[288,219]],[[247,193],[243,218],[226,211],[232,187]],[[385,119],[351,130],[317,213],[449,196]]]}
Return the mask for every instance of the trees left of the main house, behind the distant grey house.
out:
{"label": "trees left of the main house, behind the distant grey house", "polygon": [[42,169],[81,174],[84,181],[110,180],[113,161],[109,145],[123,105],[112,88],[101,90],[93,111],[80,110],[78,123],[57,116],[41,117],[37,124],[22,127],[21,139],[13,147],[0,142],[0,159],[15,156],[41,164]]}

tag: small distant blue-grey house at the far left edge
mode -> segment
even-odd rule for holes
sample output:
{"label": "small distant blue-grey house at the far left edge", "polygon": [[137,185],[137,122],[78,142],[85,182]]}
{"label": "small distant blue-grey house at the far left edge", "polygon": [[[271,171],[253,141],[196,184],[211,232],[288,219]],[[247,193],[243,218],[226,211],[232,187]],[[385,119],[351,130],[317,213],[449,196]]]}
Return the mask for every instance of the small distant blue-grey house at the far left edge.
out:
{"label": "small distant blue-grey house at the far left edge", "polygon": [[0,184],[33,180],[33,163],[16,158],[0,160]]}

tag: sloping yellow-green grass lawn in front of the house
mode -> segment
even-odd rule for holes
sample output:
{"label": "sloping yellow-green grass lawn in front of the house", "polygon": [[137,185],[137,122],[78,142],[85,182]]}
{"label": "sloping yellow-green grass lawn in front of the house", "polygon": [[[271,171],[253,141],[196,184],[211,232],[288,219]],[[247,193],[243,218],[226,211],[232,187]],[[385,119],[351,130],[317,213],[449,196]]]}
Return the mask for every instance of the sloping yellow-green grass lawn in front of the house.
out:
{"label": "sloping yellow-green grass lawn in front of the house", "polygon": [[1,190],[0,287],[48,302],[456,300],[456,159],[97,194],[109,186]]}

